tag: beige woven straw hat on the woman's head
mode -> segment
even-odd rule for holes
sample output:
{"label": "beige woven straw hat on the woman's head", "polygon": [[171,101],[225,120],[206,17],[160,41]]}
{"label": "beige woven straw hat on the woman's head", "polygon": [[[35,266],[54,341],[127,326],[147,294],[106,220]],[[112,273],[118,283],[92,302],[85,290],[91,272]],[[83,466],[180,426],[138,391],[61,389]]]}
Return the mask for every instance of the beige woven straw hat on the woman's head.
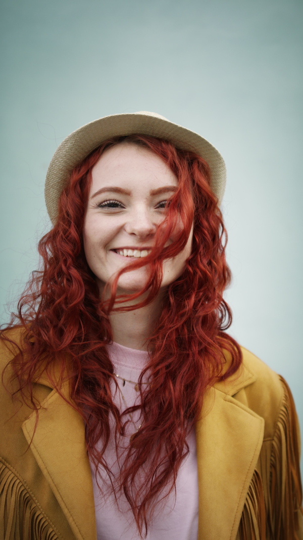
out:
{"label": "beige woven straw hat on the woman's head", "polygon": [[212,191],[218,198],[218,204],[221,203],[226,181],[225,163],[206,139],[155,112],[112,114],[73,131],[54,153],[45,182],[46,208],[53,225],[58,216],[60,194],[73,168],[106,139],[135,133],[169,140],[177,148],[196,152],[205,159],[211,171]]}

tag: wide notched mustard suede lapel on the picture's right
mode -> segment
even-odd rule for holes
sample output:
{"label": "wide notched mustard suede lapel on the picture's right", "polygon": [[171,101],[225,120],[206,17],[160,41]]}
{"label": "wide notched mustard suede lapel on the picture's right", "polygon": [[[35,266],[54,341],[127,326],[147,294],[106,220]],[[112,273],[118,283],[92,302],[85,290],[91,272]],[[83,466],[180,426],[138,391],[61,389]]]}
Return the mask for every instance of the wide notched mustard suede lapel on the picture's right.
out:
{"label": "wide notched mustard suede lapel on the picture's right", "polygon": [[256,377],[244,366],[204,396],[196,425],[198,540],[235,540],[263,442],[264,420],[231,397]]}

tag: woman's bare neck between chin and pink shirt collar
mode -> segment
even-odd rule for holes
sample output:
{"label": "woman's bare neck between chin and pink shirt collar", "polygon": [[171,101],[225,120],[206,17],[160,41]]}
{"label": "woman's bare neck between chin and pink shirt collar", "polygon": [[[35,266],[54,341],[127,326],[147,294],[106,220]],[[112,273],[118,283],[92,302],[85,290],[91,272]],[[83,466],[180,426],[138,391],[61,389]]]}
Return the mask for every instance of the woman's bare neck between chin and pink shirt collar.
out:
{"label": "woman's bare neck between chin and pink shirt collar", "polygon": [[[136,303],[139,303],[138,299]],[[147,350],[148,339],[153,333],[162,307],[162,295],[140,309],[113,312],[109,315],[113,341],[130,349]]]}

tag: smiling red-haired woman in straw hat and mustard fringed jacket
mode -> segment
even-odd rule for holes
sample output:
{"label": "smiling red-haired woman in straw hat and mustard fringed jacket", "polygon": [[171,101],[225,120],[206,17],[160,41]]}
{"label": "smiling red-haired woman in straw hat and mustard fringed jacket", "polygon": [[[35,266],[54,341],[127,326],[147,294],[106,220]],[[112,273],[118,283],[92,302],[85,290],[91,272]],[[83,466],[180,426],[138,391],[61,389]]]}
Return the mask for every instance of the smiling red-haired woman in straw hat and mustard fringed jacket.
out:
{"label": "smiling red-haired woman in straw hat and mustard fringed jacket", "polygon": [[58,147],[43,265],[1,334],[1,538],[303,538],[290,390],[225,332],[224,184],[155,113]]}

